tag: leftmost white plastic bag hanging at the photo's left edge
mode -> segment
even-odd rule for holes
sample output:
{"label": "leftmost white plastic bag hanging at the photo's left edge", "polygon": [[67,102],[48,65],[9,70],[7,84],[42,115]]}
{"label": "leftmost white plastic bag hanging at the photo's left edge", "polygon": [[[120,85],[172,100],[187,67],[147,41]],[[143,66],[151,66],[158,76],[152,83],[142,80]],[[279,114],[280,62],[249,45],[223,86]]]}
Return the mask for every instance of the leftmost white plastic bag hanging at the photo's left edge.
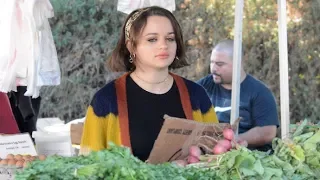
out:
{"label": "leftmost white plastic bag hanging at the photo's left edge", "polygon": [[[27,66],[32,59],[32,37],[23,1],[4,0],[0,24],[0,91],[16,91],[26,85]],[[3,41],[2,41],[3,39]],[[21,78],[18,80],[17,77]]]}

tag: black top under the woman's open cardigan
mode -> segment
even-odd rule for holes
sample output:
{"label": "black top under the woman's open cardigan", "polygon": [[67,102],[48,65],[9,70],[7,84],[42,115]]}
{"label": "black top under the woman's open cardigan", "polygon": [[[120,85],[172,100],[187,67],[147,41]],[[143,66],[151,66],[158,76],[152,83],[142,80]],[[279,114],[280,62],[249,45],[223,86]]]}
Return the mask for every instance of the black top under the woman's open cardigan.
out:
{"label": "black top under the woman's open cardigan", "polygon": [[134,156],[145,161],[161,130],[163,116],[186,117],[175,82],[164,94],[153,94],[142,89],[131,76],[127,77],[126,82],[131,148]]}

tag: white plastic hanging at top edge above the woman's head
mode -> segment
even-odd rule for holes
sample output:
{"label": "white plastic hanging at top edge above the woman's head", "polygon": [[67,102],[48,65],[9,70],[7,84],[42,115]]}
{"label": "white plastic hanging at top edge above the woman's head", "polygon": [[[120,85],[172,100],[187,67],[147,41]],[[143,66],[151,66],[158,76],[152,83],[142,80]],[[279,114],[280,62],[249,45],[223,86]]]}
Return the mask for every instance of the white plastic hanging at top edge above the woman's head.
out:
{"label": "white plastic hanging at top edge above the woman's head", "polygon": [[175,0],[118,0],[117,10],[130,14],[138,8],[148,6],[160,6],[171,12],[176,9]]}

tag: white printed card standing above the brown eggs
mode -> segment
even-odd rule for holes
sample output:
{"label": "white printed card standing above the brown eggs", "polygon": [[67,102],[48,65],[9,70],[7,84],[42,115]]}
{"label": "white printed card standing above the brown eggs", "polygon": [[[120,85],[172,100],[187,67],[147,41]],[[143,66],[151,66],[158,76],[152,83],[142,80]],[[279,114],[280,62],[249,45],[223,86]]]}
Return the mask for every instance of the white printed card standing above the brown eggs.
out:
{"label": "white printed card standing above the brown eggs", "polygon": [[4,159],[8,154],[36,156],[37,151],[28,133],[0,135],[0,158]]}

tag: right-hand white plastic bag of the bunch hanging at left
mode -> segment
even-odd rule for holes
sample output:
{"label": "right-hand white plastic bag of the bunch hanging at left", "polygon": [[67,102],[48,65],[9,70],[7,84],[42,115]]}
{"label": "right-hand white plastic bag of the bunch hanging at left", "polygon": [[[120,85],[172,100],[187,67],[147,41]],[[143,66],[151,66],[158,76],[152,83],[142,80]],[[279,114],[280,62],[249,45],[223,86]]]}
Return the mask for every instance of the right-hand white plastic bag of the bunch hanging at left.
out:
{"label": "right-hand white plastic bag of the bunch hanging at left", "polygon": [[41,86],[60,84],[60,67],[48,18],[54,16],[49,0],[31,0],[32,23],[35,32],[34,74],[28,79],[26,96],[38,97]]}

